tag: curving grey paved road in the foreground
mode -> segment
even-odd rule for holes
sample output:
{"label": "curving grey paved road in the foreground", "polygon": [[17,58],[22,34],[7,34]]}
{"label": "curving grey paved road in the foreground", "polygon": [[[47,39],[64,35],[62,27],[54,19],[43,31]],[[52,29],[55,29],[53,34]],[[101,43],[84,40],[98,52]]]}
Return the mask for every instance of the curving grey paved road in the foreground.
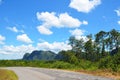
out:
{"label": "curving grey paved road in the foreground", "polygon": [[9,67],[19,77],[19,80],[113,80],[111,78],[92,76],[78,72],[56,69]]}

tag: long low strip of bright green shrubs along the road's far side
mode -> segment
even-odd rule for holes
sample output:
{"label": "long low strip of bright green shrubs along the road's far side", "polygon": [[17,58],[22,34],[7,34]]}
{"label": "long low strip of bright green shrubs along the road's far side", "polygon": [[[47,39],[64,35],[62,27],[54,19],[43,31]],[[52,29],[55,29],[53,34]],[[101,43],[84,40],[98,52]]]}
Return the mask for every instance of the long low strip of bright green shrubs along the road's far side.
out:
{"label": "long low strip of bright green shrubs along the road's far side", "polygon": [[24,60],[1,60],[1,67],[41,67],[41,68],[57,68],[68,70],[96,70],[98,69],[97,63],[81,60],[78,64],[72,64],[64,61],[24,61]]}

